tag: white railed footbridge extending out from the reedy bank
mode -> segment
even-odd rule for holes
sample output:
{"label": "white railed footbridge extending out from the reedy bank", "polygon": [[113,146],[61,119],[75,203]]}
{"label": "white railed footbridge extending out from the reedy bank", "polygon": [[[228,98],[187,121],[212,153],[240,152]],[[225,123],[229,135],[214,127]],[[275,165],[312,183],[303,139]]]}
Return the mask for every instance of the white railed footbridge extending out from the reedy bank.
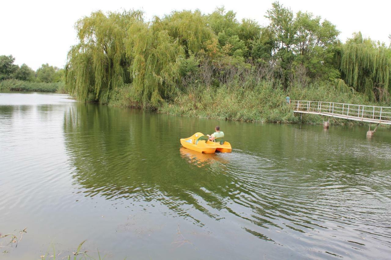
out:
{"label": "white railed footbridge extending out from the reedy bank", "polygon": [[290,103],[296,112],[310,114],[324,114],[338,118],[362,121],[391,122],[391,107],[377,107],[367,105],[354,105],[323,101],[292,100]]}

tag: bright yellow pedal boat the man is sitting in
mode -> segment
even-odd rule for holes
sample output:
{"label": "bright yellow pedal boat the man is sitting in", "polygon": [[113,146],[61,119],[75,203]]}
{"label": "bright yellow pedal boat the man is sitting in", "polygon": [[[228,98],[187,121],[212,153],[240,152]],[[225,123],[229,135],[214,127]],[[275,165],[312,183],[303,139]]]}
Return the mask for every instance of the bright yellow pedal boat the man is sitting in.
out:
{"label": "bright yellow pedal boat the man is sitting in", "polygon": [[188,138],[182,138],[181,144],[183,147],[199,153],[214,153],[215,151],[230,153],[232,151],[231,144],[225,142],[222,138],[217,138],[214,141],[209,141],[208,138],[208,136],[198,132]]}

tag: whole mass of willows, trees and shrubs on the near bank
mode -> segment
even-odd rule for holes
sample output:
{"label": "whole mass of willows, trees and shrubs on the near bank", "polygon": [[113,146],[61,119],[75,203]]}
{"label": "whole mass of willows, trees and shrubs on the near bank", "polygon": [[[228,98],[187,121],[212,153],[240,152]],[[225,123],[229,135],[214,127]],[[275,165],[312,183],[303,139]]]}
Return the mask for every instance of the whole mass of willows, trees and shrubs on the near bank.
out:
{"label": "whole mass of willows, trees and shrubs on the near bank", "polygon": [[[278,2],[266,17],[270,23],[261,27],[254,20],[238,21],[224,7],[211,14],[174,11],[150,22],[140,11],[93,12],[75,25],[79,43],[68,53],[66,89],[83,101],[164,112],[167,106],[178,109],[178,103],[188,113],[205,108],[204,116],[215,117],[208,114],[217,105],[213,93],[223,105],[237,102],[227,118],[284,122],[296,120],[284,114],[289,112],[280,102],[284,91],[299,96],[310,90],[301,98],[340,94],[347,102],[359,93],[363,100],[389,95],[389,47],[342,44],[330,21],[310,12],[294,14]],[[56,73],[54,78],[63,77]],[[266,104],[267,95],[277,103]]]}

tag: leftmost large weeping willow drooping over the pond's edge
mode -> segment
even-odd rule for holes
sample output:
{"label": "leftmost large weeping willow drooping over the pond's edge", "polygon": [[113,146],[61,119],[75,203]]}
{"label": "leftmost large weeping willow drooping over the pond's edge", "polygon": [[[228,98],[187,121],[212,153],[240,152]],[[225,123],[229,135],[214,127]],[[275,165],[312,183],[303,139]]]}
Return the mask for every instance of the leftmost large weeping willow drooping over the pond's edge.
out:
{"label": "leftmost large weeping willow drooping over the pond's edge", "polygon": [[80,100],[107,103],[112,89],[131,81],[124,39],[129,24],[142,21],[141,11],[93,12],[77,21],[79,43],[66,64],[66,88]]}

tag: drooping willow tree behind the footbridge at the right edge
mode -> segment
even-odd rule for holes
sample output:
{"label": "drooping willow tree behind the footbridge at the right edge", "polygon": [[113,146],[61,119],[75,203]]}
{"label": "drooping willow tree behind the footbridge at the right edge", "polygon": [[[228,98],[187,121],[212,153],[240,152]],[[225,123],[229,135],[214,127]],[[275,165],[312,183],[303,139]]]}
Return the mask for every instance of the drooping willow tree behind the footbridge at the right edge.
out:
{"label": "drooping willow tree behind the footbridge at the right edge", "polygon": [[341,48],[341,76],[346,84],[365,93],[372,100],[389,96],[391,57],[389,49],[371,39],[354,34]]}

